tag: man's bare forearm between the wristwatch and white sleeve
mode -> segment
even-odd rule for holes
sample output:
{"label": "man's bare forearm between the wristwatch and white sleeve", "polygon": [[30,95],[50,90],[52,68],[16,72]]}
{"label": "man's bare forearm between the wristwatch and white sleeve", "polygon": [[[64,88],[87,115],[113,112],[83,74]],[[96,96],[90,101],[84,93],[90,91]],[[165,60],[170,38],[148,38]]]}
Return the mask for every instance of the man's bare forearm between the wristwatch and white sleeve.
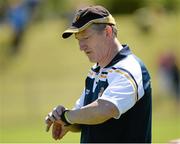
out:
{"label": "man's bare forearm between the wristwatch and white sleeve", "polygon": [[118,115],[118,110],[114,104],[97,100],[81,109],[68,111],[68,119],[75,124],[100,124]]}

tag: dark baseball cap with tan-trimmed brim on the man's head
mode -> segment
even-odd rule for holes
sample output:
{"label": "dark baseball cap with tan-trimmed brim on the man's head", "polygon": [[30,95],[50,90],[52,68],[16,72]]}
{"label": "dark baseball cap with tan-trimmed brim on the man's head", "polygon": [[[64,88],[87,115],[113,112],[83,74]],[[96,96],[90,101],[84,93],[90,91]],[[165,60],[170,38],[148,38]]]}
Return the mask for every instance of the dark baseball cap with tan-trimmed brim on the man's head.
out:
{"label": "dark baseball cap with tan-trimmed brim on the man's head", "polygon": [[63,32],[62,37],[68,38],[74,33],[81,32],[93,23],[116,25],[116,22],[107,9],[102,6],[88,6],[75,14],[72,25]]}

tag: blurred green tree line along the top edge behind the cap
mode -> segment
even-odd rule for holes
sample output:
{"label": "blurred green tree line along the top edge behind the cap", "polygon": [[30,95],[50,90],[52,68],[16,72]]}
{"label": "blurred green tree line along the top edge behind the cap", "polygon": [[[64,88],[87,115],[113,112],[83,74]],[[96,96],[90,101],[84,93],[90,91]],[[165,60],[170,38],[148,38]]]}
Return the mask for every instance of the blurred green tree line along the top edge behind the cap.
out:
{"label": "blurred green tree line along the top edge behind the cap", "polygon": [[[16,1],[16,0],[8,0]],[[24,0],[28,1],[28,0]],[[99,4],[105,6],[113,14],[131,14],[142,7],[158,7],[166,12],[177,12],[180,0],[39,0],[38,19],[54,16],[67,16],[82,5]],[[7,0],[0,0],[0,19],[5,11]]]}

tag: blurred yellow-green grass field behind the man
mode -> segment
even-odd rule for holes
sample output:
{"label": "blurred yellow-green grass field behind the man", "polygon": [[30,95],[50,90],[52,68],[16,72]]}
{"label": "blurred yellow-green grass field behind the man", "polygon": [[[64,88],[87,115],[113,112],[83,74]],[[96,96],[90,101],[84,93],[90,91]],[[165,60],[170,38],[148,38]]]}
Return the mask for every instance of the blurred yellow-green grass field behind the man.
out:
{"label": "blurred yellow-green grass field behind the man", "polygon": [[[148,35],[138,31],[132,16],[117,20],[120,41],[132,47],[152,76],[153,142],[180,137],[179,111],[171,95],[159,92],[157,83],[162,50],[171,47],[180,54],[180,17],[162,15]],[[55,142],[45,132],[44,118],[58,104],[73,107],[92,65],[73,37],[62,40],[65,25],[61,19],[30,25],[21,52],[9,59],[3,54],[9,31],[6,27],[0,31],[0,142]],[[79,142],[79,134],[69,133],[62,142]]]}

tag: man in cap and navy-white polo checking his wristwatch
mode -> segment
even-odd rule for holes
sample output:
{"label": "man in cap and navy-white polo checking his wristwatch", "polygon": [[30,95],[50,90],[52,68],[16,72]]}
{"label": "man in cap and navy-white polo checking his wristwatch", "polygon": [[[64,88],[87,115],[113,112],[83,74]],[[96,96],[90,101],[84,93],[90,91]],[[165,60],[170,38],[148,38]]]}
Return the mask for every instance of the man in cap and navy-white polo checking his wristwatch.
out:
{"label": "man in cap and navy-white polo checking his wristwatch", "polygon": [[59,105],[46,117],[61,139],[81,131],[81,143],[151,142],[151,86],[144,64],[117,39],[116,23],[102,6],[80,9],[62,37],[75,34],[91,62],[74,109]]}

